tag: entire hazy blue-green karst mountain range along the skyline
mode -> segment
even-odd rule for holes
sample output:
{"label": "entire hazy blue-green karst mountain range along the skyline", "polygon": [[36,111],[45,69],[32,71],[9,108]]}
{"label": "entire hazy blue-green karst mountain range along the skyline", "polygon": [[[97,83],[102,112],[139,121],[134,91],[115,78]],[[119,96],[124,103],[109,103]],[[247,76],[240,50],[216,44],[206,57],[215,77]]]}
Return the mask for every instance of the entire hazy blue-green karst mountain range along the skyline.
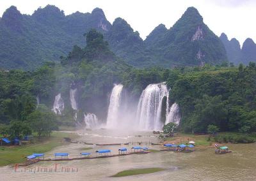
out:
{"label": "entire hazy blue-green karst mountain range along the skyline", "polygon": [[86,45],[83,35],[90,29],[103,33],[111,50],[136,67],[256,61],[251,39],[244,41],[241,50],[237,40],[229,41],[225,34],[218,38],[193,7],[173,27],[166,29],[160,24],[143,41],[124,19],[116,18],[110,24],[99,8],[65,16],[56,6],[47,5],[33,15],[22,15],[15,6],[4,12],[0,18],[0,68],[35,69],[45,61],[60,61],[74,45]]}

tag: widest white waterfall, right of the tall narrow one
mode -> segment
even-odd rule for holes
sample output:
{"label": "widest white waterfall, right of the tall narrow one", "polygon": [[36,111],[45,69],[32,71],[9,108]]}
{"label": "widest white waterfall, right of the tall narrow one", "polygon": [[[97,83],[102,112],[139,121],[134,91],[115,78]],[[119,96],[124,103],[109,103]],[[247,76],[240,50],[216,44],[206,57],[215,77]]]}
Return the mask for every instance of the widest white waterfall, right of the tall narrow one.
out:
{"label": "widest white waterfall, right of the tall narrow one", "polygon": [[161,130],[161,109],[164,96],[168,96],[166,83],[154,83],[146,87],[140,96],[136,117],[141,130]]}

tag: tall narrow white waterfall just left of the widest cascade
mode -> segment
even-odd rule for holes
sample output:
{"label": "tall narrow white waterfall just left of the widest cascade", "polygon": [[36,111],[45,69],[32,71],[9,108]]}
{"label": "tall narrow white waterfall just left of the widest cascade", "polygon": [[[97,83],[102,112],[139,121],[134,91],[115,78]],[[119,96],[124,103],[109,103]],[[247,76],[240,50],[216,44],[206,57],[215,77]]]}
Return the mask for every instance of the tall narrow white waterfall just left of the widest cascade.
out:
{"label": "tall narrow white waterfall just left of the widest cascade", "polygon": [[107,117],[107,125],[108,128],[117,128],[118,126],[118,118],[119,118],[119,109],[121,104],[121,97],[122,97],[122,84],[115,84],[112,89],[110,100],[109,100],[109,107],[108,107],[108,117]]}

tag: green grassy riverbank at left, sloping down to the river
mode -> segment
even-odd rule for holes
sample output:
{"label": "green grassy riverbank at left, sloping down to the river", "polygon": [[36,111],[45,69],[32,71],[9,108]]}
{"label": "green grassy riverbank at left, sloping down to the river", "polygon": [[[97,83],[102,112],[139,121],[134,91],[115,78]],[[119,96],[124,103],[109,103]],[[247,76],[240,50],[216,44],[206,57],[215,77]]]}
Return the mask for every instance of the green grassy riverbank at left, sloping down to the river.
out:
{"label": "green grassy riverbank at left, sloping down to the river", "polygon": [[33,153],[49,152],[52,148],[67,144],[63,142],[63,138],[69,137],[74,139],[76,134],[53,132],[51,137],[34,138],[34,143],[21,145],[0,147],[0,166],[8,164],[22,163],[26,161],[26,156]]}

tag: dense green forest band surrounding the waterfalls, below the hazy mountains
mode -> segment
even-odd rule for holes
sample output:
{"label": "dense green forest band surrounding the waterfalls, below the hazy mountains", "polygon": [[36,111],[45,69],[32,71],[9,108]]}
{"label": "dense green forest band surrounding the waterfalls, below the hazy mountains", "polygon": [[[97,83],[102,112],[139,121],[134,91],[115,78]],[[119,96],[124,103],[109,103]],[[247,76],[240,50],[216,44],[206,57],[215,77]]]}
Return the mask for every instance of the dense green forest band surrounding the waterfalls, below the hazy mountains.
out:
{"label": "dense green forest band surrounding the waterfalls, below the hazy mountains", "polygon": [[[209,125],[220,131],[256,131],[255,63],[136,69],[116,57],[98,31],[84,36],[86,46],[74,46],[60,63],[47,62],[35,71],[0,71],[0,134],[50,134],[61,125],[76,126],[83,112],[95,112],[104,120],[114,83],[122,83],[130,98],[138,99],[148,84],[159,82],[168,84],[170,101],[180,107],[180,131],[206,132]],[[77,122],[69,103],[74,87],[79,97]],[[51,110],[58,93],[65,102],[61,115]]]}

